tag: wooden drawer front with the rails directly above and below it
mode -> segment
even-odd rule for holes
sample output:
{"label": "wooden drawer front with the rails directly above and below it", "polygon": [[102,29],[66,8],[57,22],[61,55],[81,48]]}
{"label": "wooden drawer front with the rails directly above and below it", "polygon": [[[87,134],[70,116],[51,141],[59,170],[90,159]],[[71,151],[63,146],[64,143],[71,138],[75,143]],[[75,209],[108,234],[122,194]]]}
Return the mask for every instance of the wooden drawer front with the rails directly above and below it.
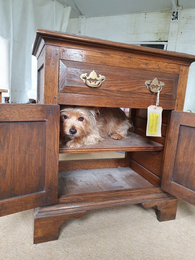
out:
{"label": "wooden drawer front with the rails directly above and below it", "polygon": [[[89,77],[93,70],[97,77],[105,77],[98,87],[87,86],[81,79],[82,74]],[[163,109],[174,109],[179,71],[178,64],[160,62],[155,57],[146,60],[144,57],[131,57],[129,53],[119,55],[117,51],[116,54],[109,54],[99,50],[60,48],[58,103],[81,105],[85,102],[86,105],[99,106],[121,104],[120,107],[145,108],[155,104],[157,98],[157,94],[151,92],[145,82],[152,83],[157,78],[158,83],[165,84],[160,92],[159,105]],[[97,81],[88,78],[87,82],[91,84]],[[141,104],[140,99],[143,101]]]}

